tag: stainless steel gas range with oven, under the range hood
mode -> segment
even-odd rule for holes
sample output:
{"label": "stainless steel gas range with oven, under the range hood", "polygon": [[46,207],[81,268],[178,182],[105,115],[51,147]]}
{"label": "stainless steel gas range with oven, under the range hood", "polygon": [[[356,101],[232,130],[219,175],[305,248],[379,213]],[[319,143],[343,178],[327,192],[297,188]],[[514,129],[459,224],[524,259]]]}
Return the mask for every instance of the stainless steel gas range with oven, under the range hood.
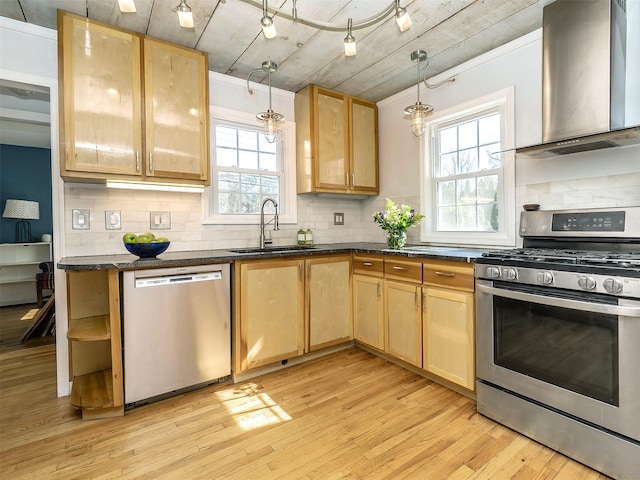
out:
{"label": "stainless steel gas range with oven, under the range hood", "polygon": [[523,212],[476,263],[478,412],[640,478],[640,207]]}

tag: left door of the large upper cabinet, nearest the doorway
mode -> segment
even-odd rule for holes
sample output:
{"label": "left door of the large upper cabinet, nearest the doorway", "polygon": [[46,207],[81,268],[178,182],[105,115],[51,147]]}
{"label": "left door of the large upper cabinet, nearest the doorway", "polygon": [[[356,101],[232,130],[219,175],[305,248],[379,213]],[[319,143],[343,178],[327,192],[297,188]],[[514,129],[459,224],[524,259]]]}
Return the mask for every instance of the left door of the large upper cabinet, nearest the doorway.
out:
{"label": "left door of the large upper cabinet, nearest the doorway", "polygon": [[140,175],[140,37],[66,12],[58,24],[62,176]]}

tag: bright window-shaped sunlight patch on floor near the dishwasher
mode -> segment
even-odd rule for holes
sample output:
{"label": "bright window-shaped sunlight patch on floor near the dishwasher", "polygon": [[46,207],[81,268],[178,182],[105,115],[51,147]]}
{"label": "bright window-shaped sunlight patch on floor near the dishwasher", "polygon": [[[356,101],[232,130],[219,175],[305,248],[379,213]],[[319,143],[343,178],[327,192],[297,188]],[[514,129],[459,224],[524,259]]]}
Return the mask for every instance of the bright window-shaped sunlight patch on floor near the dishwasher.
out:
{"label": "bright window-shaped sunlight patch on floor near the dishwasher", "polygon": [[216,393],[235,422],[243,430],[273,425],[291,417],[255,383],[235,385]]}

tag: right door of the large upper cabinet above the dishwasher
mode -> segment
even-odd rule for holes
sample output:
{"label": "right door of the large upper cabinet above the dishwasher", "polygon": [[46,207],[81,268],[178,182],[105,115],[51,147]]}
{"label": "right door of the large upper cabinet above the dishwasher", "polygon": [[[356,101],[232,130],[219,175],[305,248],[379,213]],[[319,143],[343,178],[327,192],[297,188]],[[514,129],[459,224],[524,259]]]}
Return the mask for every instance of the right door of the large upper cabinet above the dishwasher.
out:
{"label": "right door of the large upper cabinet above the dishwasher", "polygon": [[209,178],[207,57],[144,39],[146,174]]}

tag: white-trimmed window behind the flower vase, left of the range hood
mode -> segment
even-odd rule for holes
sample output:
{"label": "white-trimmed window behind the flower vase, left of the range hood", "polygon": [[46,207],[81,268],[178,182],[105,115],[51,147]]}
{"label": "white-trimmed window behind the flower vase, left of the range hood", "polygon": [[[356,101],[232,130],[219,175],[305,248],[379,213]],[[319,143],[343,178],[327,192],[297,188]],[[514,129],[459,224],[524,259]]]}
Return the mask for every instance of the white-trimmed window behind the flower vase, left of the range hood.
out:
{"label": "white-trimmed window behind the flower vase, left of the range hood", "polygon": [[514,245],[513,89],[442,112],[424,149],[421,240]]}

